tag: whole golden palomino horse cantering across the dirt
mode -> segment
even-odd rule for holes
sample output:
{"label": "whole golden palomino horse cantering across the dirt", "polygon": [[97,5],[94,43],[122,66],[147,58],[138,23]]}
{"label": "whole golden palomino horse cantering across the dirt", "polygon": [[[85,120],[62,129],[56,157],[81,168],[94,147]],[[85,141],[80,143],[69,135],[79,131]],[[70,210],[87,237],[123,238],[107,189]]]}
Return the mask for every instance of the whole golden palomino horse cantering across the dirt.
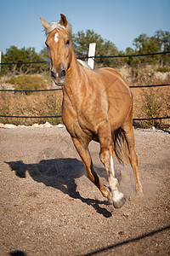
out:
{"label": "whole golden palomino horse cantering across the dirt", "polygon": [[[125,197],[118,190],[113,167],[114,151],[118,160],[123,161],[123,156],[129,160],[137,192],[142,193],[134,150],[133,96],[115,69],[91,69],[77,61],[71,46],[71,26],[65,15],[60,16],[58,22],[50,24],[40,19],[48,36],[45,44],[51,59],[51,76],[63,90],[63,122],[82,158],[88,178],[114,207],[120,208]],[[100,144],[99,157],[107,172],[109,188],[100,183],[94,172],[88,151],[92,140]]]}

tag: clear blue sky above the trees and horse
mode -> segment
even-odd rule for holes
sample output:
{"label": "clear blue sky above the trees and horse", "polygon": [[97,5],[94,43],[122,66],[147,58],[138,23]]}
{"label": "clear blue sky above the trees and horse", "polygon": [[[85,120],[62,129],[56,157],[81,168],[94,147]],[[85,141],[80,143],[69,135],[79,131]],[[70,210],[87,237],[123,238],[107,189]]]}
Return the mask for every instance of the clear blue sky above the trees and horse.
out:
{"label": "clear blue sky above the trees and horse", "polygon": [[0,50],[15,45],[39,52],[45,42],[39,17],[50,22],[60,13],[74,33],[94,29],[119,50],[133,47],[141,33],[170,31],[170,0],[0,0]]}

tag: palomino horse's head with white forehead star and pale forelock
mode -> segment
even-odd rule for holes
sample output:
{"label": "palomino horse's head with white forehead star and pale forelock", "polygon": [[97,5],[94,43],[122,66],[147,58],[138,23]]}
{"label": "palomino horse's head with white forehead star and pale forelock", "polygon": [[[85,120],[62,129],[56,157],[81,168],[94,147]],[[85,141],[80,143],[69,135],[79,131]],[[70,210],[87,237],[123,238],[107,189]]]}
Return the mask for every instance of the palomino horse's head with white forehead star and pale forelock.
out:
{"label": "palomino horse's head with white forehead star and pale forelock", "polygon": [[65,85],[66,71],[71,63],[71,26],[65,15],[60,15],[58,22],[48,24],[42,20],[48,36],[45,44],[48,47],[48,55],[51,60],[51,76],[57,85]]}

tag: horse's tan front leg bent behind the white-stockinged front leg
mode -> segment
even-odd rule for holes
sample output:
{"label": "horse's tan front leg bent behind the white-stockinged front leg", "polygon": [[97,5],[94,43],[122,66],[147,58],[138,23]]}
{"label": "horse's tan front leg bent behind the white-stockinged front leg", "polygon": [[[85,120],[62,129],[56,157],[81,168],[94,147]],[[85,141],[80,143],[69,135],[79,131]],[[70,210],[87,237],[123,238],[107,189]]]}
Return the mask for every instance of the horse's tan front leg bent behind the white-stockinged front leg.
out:
{"label": "horse's tan front leg bent behind the white-stockinged front leg", "polygon": [[92,158],[91,158],[89,150],[88,150],[88,143],[81,143],[75,137],[72,137],[72,141],[75,145],[75,148],[77,148],[78,154],[82,158],[82,162],[86,168],[88,178],[98,187],[98,189],[101,191],[102,195],[105,196],[108,199],[108,201],[112,202],[111,193],[110,193],[109,189],[105,188],[105,186],[102,183],[100,183],[97,173],[94,172]]}

